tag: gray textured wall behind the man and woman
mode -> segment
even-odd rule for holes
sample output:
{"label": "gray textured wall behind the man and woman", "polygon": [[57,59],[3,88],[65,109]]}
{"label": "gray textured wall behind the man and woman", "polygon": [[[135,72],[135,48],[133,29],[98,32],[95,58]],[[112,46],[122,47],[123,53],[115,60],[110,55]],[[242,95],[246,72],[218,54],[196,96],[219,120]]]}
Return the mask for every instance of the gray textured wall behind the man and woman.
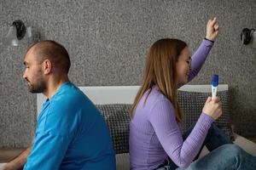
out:
{"label": "gray textured wall behind the man and woman", "polygon": [[30,144],[36,124],[36,95],[22,80],[26,48],[38,39],[61,42],[69,51],[70,79],[78,86],[139,85],[143,61],[152,42],[176,37],[195,51],[207,19],[217,16],[220,35],[192,84],[210,83],[218,74],[231,90],[236,132],[256,135],[255,48],[240,33],[256,27],[256,1],[51,1],[1,0],[0,35],[14,20],[31,25],[32,40],[19,47],[0,43],[0,146]]}

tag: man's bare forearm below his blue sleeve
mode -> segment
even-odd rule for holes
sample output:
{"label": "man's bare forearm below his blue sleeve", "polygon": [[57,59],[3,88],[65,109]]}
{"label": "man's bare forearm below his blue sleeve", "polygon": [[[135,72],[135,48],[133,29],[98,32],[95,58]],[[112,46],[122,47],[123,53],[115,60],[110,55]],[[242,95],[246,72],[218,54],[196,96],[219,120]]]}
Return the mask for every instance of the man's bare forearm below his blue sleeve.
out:
{"label": "man's bare forearm below his blue sleeve", "polygon": [[30,154],[32,147],[24,150],[20,156],[15,157],[14,160],[9,161],[6,163],[0,170],[20,170],[23,169],[24,165],[26,164],[26,158]]}

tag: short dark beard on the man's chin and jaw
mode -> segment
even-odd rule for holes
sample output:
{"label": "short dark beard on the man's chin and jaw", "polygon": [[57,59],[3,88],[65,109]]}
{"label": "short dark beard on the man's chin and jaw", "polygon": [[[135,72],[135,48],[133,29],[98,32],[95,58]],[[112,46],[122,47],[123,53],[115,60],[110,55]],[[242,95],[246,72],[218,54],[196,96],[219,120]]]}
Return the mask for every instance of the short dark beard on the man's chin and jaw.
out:
{"label": "short dark beard on the man's chin and jaw", "polygon": [[28,91],[32,94],[40,94],[46,91],[46,82],[43,77],[38,77],[33,83],[26,80]]}

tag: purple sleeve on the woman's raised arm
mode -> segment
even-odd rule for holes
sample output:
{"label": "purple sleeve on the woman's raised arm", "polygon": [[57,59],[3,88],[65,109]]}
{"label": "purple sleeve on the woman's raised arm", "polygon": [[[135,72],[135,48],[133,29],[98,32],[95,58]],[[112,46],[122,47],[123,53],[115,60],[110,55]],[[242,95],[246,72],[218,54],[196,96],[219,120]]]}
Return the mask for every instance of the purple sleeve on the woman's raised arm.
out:
{"label": "purple sleeve on the woman's raised arm", "polygon": [[193,78],[201,70],[201,67],[205,63],[207,55],[209,54],[212,46],[212,41],[204,39],[201,42],[199,48],[197,48],[197,50],[195,51],[195,54],[192,55],[191,71],[189,72],[189,82],[193,80]]}

